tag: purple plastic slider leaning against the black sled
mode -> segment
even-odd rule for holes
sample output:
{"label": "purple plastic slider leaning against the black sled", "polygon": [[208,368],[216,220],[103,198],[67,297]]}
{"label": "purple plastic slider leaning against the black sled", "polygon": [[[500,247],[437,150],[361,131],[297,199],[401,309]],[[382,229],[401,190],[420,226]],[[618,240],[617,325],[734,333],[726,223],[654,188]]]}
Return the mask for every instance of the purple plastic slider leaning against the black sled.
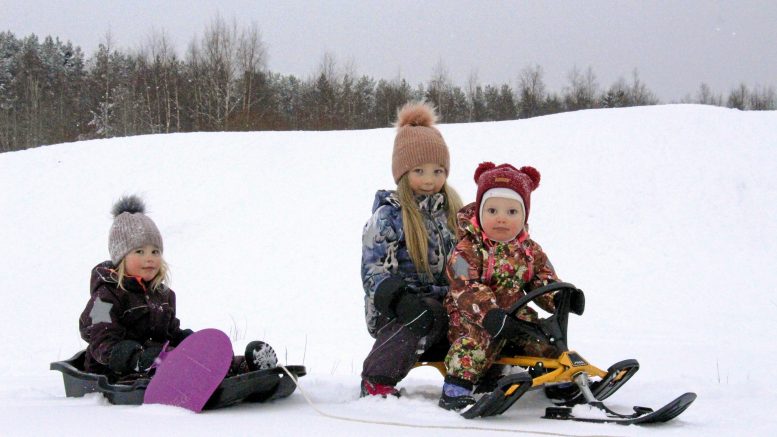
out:
{"label": "purple plastic slider leaning against the black sled", "polygon": [[218,329],[186,337],[161,359],[144,404],[164,404],[201,412],[232,363],[232,343]]}

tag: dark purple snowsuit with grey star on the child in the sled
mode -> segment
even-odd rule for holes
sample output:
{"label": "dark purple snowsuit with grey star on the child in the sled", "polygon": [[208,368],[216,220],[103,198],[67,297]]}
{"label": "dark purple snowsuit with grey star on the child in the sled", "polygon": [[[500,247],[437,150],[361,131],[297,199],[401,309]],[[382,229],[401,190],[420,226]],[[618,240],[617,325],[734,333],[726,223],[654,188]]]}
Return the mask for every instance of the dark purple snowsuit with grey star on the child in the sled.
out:
{"label": "dark purple snowsuit with grey star on the child in the sled", "polygon": [[110,261],[92,269],[91,297],[78,321],[86,348],[84,370],[110,374],[108,362],[113,346],[134,340],[144,348],[159,347],[169,341],[177,346],[191,330],[182,330],[175,317],[175,293],[163,286],[148,291],[148,284],[136,277],[125,277],[124,288],[116,281]]}

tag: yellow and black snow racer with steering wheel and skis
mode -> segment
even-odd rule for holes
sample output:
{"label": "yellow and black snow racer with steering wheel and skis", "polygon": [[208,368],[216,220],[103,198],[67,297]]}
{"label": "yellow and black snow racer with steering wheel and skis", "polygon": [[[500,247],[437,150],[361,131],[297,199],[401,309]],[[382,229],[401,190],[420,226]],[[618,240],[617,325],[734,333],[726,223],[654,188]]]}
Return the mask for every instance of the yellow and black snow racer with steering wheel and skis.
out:
{"label": "yellow and black snow racer with steering wheel and skis", "polygon": [[[610,397],[639,370],[637,360],[623,360],[610,366],[607,371],[588,363],[580,354],[567,348],[567,322],[570,312],[572,291],[576,287],[566,282],[557,282],[528,293],[515,303],[507,312],[515,315],[524,306],[539,296],[559,293],[556,297],[555,312],[538,323],[518,320],[523,331],[541,341],[555,345],[562,351],[555,359],[521,356],[515,347],[508,344],[502,350],[495,366],[507,369],[505,376],[497,375],[491,381],[481,381],[476,393],[485,394],[471,407],[462,410],[465,418],[494,416],[504,413],[524,393],[529,390],[543,389],[554,401],[556,407],[546,409],[546,419],[574,420],[583,422],[611,422],[619,424],[646,424],[666,422],[681,414],[696,399],[695,393],[685,393],[654,411],[646,407],[634,407],[629,414],[617,413],[602,401]],[[418,366],[433,366],[446,375],[443,363],[444,353],[440,350],[428,351],[419,359]],[[498,369],[498,367],[497,367]],[[489,372],[491,373],[491,372]],[[487,378],[484,377],[484,380]],[[572,414],[572,406],[588,404],[604,412],[604,417],[586,418]]]}

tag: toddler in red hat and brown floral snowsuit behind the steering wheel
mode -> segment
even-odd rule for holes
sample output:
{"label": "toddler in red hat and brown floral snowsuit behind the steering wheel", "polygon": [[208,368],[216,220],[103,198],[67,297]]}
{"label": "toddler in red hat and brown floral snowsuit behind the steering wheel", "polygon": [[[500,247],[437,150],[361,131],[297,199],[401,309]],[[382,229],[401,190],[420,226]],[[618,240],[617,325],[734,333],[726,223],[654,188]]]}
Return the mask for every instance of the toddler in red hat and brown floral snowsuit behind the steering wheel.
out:
{"label": "toddler in red hat and brown floral snowsuit behind the steering wheel", "polygon": [[[447,265],[450,292],[451,348],[445,358],[447,376],[440,406],[459,410],[474,403],[474,384],[491,366],[505,344],[516,340],[527,354],[554,356],[558,351],[525,336],[508,334],[505,309],[527,292],[558,281],[548,257],[529,238],[527,218],[531,192],[540,182],[532,167],[484,162],[475,171],[477,198],[458,213],[459,242]],[[553,312],[553,297],[536,303]],[[536,321],[537,312],[524,307],[518,317]],[[507,323],[507,328],[510,328]]]}

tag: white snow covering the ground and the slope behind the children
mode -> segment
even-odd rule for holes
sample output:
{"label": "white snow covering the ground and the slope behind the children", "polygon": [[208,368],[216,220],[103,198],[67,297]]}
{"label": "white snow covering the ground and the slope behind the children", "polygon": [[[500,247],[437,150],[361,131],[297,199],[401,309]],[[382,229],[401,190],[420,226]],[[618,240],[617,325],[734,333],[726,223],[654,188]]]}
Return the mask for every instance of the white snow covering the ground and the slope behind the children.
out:
{"label": "white snow covering the ground and the slope behind the children", "polygon": [[[612,408],[698,393],[682,416],[642,428],[548,421],[531,392],[468,421],[437,407],[431,368],[411,372],[400,399],[359,399],[372,344],[361,229],[375,190],[393,186],[393,130],[190,133],[0,154],[0,434],[777,433],[777,112],[667,105],[440,129],[465,202],[482,161],[542,173],[532,236],[586,291],[570,346],[600,368],[639,360]],[[301,391],[203,414],[65,397],[48,365],[85,347],[89,271],[108,258],[110,207],[125,193],[145,196],[162,232],[183,326],[221,329],[238,353],[268,341],[307,367],[315,408],[350,421]]]}

